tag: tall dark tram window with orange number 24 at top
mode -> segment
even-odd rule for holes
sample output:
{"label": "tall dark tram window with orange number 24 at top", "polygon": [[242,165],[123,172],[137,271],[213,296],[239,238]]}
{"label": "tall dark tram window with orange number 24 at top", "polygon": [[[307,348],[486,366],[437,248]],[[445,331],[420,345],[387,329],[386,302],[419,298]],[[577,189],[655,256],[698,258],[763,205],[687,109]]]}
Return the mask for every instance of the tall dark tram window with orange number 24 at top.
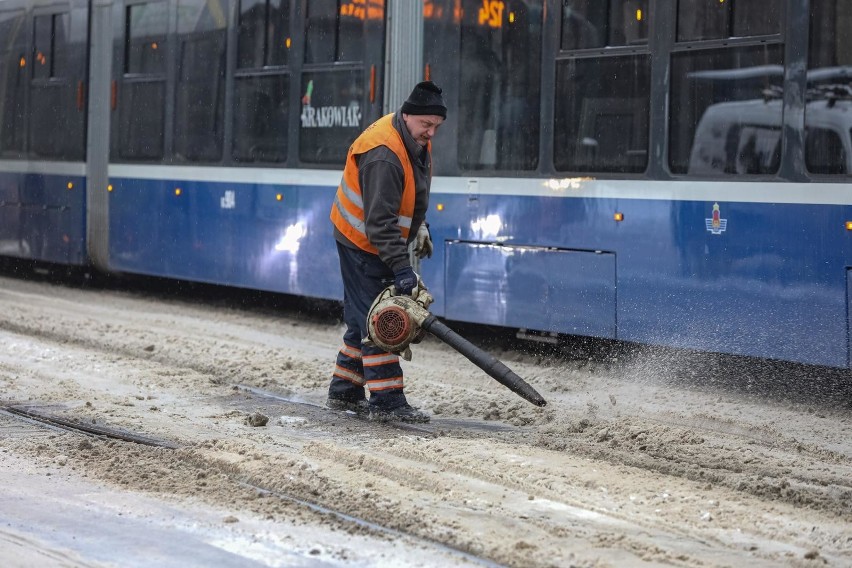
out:
{"label": "tall dark tram window with orange number 24 at top", "polygon": [[538,165],[541,4],[511,1],[482,14],[464,3],[459,74],[459,166],[530,170]]}

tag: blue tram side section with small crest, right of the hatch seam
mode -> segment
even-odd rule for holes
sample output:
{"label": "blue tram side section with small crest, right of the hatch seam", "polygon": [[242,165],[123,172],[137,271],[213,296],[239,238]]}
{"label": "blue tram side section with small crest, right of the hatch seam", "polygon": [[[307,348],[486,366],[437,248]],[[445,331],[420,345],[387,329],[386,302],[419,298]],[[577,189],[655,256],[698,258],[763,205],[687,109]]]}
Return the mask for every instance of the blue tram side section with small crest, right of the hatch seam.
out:
{"label": "blue tram side section with small crest, right of the hatch seam", "polygon": [[845,366],[843,208],[713,199],[728,185],[622,204],[619,338]]}

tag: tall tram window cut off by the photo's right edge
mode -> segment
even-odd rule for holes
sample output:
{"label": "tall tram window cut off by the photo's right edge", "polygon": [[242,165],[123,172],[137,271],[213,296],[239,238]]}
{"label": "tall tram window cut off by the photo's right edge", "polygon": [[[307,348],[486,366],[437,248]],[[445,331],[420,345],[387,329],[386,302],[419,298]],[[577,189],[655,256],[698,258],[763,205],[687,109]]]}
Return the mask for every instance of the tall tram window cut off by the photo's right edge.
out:
{"label": "tall tram window cut off by the photo's right edge", "polygon": [[811,0],[805,166],[816,174],[850,175],[852,2]]}

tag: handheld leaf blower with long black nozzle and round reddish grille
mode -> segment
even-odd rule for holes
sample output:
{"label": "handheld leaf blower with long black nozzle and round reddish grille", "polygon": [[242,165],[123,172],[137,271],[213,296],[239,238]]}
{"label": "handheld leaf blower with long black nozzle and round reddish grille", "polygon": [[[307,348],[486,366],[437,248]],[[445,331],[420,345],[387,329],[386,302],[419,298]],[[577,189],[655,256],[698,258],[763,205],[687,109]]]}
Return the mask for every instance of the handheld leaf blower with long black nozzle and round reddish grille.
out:
{"label": "handheld leaf blower with long black nozzle and round reddish grille", "polygon": [[428,307],[433,301],[422,282],[411,296],[395,295],[393,286],[385,288],[367,314],[369,335],[364,343],[376,345],[410,361],[409,346],[419,343],[428,331],[521,398],[536,406],[547,404],[534,388],[496,357],[479,349],[429,313]]}

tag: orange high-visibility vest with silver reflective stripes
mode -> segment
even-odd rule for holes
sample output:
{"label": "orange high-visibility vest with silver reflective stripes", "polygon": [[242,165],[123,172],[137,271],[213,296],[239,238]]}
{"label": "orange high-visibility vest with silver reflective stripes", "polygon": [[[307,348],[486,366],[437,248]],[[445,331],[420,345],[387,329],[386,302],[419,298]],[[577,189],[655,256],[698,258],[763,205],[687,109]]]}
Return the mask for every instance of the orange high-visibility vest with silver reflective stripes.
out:
{"label": "orange high-visibility vest with silver reflective stripes", "polygon": [[[378,146],[390,148],[402,163],[405,186],[402,190],[397,223],[403,240],[408,240],[412,216],[414,215],[414,170],[411,167],[408,151],[405,149],[405,142],[393,126],[393,113],[383,116],[368,126],[349,147],[343,177],[340,180],[340,185],[337,186],[337,195],[334,196],[334,204],[331,206],[331,221],[337,227],[337,230],[358,248],[373,254],[378,254],[379,251],[367,238],[364,223],[364,201],[361,194],[361,184],[358,181],[358,165],[355,163],[355,158]],[[431,153],[431,149],[430,142],[427,150]]]}

